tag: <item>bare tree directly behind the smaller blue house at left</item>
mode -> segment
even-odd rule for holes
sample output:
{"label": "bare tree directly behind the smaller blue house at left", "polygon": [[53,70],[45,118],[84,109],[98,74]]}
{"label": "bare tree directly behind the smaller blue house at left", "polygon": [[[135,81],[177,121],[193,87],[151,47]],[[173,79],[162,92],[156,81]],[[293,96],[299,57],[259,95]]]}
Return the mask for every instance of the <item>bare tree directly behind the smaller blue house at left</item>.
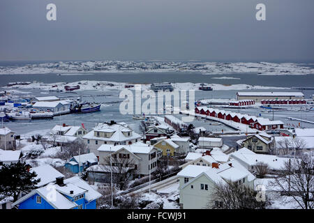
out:
{"label": "bare tree directly behind the smaller blue house at left", "polygon": [[62,160],[69,160],[75,155],[89,153],[88,146],[84,143],[82,139],[76,139],[75,141],[65,144],[62,151],[56,154]]}

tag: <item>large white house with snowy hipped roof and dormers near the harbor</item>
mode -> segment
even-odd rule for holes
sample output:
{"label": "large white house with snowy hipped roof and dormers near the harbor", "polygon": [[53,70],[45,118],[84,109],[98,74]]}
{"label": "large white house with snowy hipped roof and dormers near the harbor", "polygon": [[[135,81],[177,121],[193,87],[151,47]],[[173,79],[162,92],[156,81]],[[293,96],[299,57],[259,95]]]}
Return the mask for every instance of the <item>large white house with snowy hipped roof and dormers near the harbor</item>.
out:
{"label": "large white house with snowy hipped roof and dormers near the harbor", "polygon": [[90,152],[98,155],[97,149],[103,144],[128,145],[140,141],[142,136],[125,123],[98,123],[96,128],[85,134],[82,139],[89,146]]}

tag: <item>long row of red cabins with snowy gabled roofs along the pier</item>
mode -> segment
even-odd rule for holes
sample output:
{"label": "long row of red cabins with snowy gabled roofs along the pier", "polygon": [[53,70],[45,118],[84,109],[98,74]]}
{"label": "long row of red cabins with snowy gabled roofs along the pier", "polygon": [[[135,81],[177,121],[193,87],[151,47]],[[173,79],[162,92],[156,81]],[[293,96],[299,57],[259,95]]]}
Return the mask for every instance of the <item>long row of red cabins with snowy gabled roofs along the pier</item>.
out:
{"label": "long row of red cabins with snowy gabled roofs along the pier", "polygon": [[250,125],[251,128],[256,128],[257,130],[274,130],[283,128],[283,122],[281,121],[270,121],[268,118],[257,118],[256,116],[226,112],[224,110],[211,109],[207,107],[195,107],[195,114],[202,114]]}

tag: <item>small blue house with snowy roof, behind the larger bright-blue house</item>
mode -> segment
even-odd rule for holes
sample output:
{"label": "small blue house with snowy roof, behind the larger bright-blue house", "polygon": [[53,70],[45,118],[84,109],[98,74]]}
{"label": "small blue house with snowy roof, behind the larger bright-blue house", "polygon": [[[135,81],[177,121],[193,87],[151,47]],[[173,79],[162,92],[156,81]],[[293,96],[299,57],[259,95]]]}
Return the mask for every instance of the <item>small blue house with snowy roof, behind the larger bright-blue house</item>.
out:
{"label": "small blue house with snowy roof, behind the larger bright-blue house", "polygon": [[98,164],[98,158],[94,153],[75,155],[64,166],[74,174],[77,174],[79,172],[79,162],[81,162],[80,171],[84,171],[88,167]]}

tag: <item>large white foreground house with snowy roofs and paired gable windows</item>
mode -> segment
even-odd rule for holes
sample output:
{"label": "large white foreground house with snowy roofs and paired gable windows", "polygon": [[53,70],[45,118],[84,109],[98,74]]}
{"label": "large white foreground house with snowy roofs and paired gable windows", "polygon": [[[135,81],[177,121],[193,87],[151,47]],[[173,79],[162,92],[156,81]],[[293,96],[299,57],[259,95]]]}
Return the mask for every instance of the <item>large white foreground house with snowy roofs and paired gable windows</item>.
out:
{"label": "large white foreground house with snowy roofs and paired gable windows", "polygon": [[218,206],[212,192],[216,184],[227,182],[254,187],[255,176],[241,167],[237,160],[230,160],[218,167],[188,165],[177,174],[179,178],[179,203],[184,209],[202,209]]}

